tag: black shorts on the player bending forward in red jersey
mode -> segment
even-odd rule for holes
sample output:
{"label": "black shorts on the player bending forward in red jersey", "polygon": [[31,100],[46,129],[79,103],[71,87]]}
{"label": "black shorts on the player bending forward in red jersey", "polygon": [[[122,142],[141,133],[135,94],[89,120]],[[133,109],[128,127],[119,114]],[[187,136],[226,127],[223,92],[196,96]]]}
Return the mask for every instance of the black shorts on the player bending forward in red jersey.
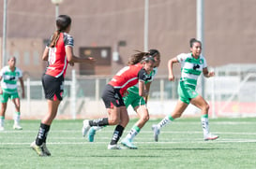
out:
{"label": "black shorts on the player bending forward in red jersey", "polygon": [[120,94],[120,89],[114,89],[113,86],[107,84],[102,93],[101,98],[106,106],[106,108],[113,108],[113,106],[125,106],[122,95]]}

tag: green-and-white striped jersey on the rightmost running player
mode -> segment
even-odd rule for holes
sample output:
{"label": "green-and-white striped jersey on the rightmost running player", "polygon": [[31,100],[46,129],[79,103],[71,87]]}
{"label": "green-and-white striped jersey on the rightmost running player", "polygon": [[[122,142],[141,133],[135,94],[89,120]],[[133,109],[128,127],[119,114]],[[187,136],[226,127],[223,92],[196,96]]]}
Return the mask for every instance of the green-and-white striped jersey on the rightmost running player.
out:
{"label": "green-and-white striped jersey on the rightmost running player", "polygon": [[181,64],[181,80],[185,84],[196,86],[197,79],[201,75],[203,68],[207,67],[203,55],[195,59],[192,57],[192,53],[181,53],[177,56],[177,60]]}

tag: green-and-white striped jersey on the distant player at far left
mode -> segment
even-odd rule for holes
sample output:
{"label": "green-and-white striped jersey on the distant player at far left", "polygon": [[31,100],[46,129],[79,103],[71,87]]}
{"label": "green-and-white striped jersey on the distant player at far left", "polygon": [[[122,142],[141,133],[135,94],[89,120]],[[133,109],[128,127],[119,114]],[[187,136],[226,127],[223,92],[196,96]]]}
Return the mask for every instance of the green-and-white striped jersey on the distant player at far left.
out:
{"label": "green-and-white striped jersey on the distant player at far left", "polygon": [[5,66],[0,71],[1,88],[4,92],[15,93],[17,90],[17,81],[20,77],[23,77],[23,72],[18,67],[15,67],[15,70],[12,72],[9,69],[9,66]]}

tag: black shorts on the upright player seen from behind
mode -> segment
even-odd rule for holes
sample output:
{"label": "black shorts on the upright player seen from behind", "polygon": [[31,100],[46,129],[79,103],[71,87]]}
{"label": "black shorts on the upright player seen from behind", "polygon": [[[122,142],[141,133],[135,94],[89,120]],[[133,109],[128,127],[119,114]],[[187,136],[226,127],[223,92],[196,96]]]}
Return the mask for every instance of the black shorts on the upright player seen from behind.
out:
{"label": "black shorts on the upright player seen from behind", "polygon": [[45,94],[45,98],[55,101],[58,99],[62,101],[62,94],[64,88],[64,77],[52,77],[50,75],[43,74],[42,86]]}

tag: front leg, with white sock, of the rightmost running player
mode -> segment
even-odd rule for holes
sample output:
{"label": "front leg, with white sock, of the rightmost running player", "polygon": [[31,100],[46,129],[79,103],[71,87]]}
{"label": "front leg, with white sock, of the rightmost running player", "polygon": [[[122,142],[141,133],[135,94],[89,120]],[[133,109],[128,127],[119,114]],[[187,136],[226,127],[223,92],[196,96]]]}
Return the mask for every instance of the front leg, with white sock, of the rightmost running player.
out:
{"label": "front leg, with white sock, of the rightmost running player", "polygon": [[218,138],[218,135],[211,134],[209,130],[209,120],[208,120],[208,110],[209,105],[207,102],[203,99],[201,95],[198,95],[197,97],[191,99],[190,102],[192,105],[199,107],[202,110],[202,127],[203,127],[203,139],[206,140],[215,140]]}

